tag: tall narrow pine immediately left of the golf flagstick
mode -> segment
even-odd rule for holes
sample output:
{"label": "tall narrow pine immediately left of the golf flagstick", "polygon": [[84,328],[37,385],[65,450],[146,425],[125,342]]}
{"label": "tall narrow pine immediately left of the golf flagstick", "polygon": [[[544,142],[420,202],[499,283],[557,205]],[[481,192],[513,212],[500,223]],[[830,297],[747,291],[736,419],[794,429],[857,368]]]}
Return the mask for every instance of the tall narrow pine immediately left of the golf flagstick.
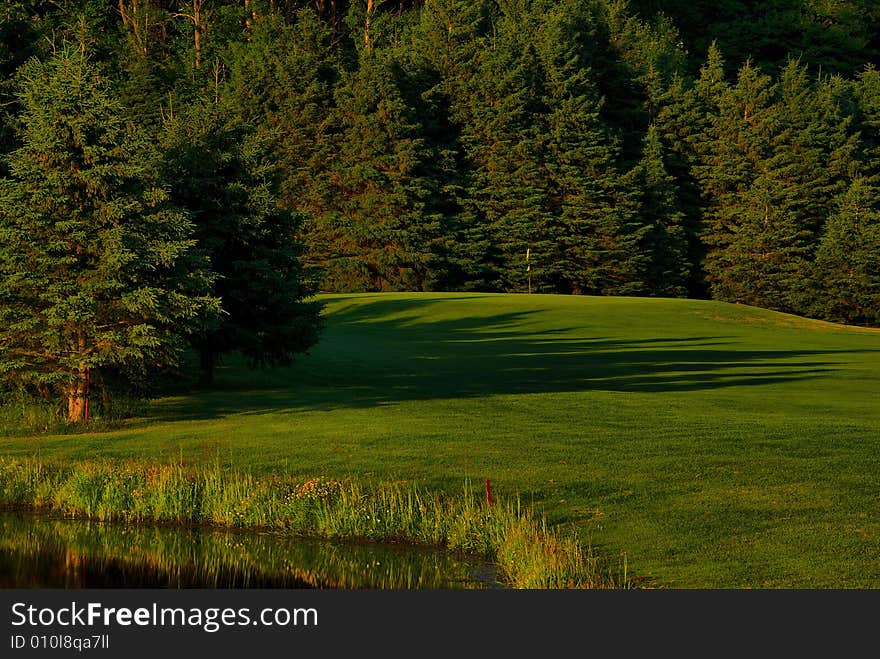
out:
{"label": "tall narrow pine immediately left of the golf flagstick", "polygon": [[542,110],[541,70],[532,43],[537,26],[526,5],[502,3],[495,31],[474,54],[476,74],[456,113],[468,170],[464,207],[471,221],[464,238],[482,265],[475,287],[486,290],[528,290],[526,254],[531,256],[532,247],[538,248],[539,279],[548,263],[535,244],[547,242],[542,227],[549,217],[536,125]]}

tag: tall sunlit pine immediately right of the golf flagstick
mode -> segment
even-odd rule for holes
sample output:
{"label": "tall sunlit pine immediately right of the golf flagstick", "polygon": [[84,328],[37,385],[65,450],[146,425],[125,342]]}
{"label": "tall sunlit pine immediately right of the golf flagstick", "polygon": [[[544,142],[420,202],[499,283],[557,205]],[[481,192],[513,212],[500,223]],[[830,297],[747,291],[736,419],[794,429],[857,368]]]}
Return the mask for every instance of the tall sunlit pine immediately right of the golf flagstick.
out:
{"label": "tall sunlit pine immediately right of the golf flagstick", "polygon": [[[645,292],[645,227],[631,177],[620,172],[620,152],[601,117],[602,99],[582,60],[589,17],[563,6],[547,14],[539,33],[544,110],[536,118],[546,186],[540,227],[543,250],[558,254],[545,270],[558,292]],[[549,218],[549,219],[548,219]],[[552,280],[551,280],[552,281]]]}

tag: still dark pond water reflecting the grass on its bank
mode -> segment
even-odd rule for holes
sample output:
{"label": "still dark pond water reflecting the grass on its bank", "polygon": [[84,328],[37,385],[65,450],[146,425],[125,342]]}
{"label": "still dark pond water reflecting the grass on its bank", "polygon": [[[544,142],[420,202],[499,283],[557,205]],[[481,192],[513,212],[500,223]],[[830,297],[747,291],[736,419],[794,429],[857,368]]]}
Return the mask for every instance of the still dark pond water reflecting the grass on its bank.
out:
{"label": "still dark pond water reflecting the grass on its bank", "polygon": [[0,512],[0,588],[492,588],[488,563],[396,545]]}

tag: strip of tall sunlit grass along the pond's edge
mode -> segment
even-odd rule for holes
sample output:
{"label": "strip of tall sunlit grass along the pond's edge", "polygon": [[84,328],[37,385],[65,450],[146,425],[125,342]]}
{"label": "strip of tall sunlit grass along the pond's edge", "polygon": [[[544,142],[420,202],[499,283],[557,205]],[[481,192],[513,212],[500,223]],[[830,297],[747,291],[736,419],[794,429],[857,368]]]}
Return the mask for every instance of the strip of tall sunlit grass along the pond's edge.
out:
{"label": "strip of tall sunlit grass along the pond's edge", "polygon": [[49,466],[0,460],[0,503],[102,521],[210,524],[322,538],[400,541],[494,560],[514,588],[614,588],[625,578],[519,505],[491,507],[414,485],[281,476],[142,461]]}

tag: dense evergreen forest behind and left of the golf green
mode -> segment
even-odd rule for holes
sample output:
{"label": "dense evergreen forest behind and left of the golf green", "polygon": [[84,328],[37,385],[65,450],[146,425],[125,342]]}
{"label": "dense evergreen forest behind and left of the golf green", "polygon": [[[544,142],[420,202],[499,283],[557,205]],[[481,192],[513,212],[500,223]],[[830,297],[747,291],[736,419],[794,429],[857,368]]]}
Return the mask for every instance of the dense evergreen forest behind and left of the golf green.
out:
{"label": "dense evergreen forest behind and left of the golf green", "polygon": [[317,292],[880,324],[871,0],[7,0],[0,379],[286,363]]}

